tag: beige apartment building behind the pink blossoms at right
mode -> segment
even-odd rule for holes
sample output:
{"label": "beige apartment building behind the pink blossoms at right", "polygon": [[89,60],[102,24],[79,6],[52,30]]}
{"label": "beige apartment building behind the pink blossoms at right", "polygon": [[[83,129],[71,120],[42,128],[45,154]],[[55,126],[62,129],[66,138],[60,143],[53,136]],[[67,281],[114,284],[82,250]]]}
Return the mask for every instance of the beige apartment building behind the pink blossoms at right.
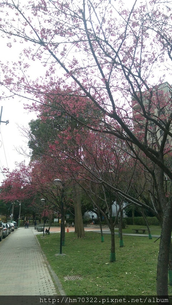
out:
{"label": "beige apartment building behind the pink blossoms at right", "polygon": [[[172,112],[172,86],[168,83],[162,83],[154,87],[151,92],[144,91],[138,97],[141,101],[139,103],[135,98],[132,99],[132,111],[134,128],[140,135],[145,133],[146,118],[144,111],[150,117],[165,126],[169,121]],[[151,145],[157,143],[161,144],[164,131],[155,122],[148,120],[147,141]],[[170,127],[172,132],[172,124]],[[172,144],[172,138],[167,135],[166,144]]]}

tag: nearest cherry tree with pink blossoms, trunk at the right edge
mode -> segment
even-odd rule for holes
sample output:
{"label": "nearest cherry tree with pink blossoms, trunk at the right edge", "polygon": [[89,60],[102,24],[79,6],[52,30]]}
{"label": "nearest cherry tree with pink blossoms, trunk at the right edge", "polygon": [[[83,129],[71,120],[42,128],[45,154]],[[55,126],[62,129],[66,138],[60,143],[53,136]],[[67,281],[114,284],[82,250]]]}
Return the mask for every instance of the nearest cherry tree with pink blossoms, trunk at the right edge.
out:
{"label": "nearest cherry tree with pink blossoms, trunk at the right edge", "polygon": [[[162,225],[157,294],[167,295],[172,203],[164,190],[164,176],[172,180],[172,171],[164,159],[171,153],[167,139],[172,136],[172,112],[171,96],[159,93],[167,58],[171,57],[171,3],[165,6],[154,0],[140,5],[135,1],[131,9],[107,0],[35,0],[26,5],[8,0],[0,5],[0,30],[8,38],[8,46],[27,41],[11,69],[9,64],[1,65],[2,97],[27,96],[51,107],[52,92],[56,91],[56,97],[64,96],[67,88],[63,101],[66,115],[92,131],[125,141],[134,157],[142,152],[142,164],[147,158],[153,168],[156,166],[152,177]],[[40,59],[48,67],[45,77],[30,81],[28,59]],[[57,79],[62,70],[65,74]],[[82,99],[70,103],[71,94]],[[83,113],[83,97],[97,110],[87,122],[78,116]],[[58,103],[56,109],[61,109]],[[154,139],[152,144],[149,135]]]}

